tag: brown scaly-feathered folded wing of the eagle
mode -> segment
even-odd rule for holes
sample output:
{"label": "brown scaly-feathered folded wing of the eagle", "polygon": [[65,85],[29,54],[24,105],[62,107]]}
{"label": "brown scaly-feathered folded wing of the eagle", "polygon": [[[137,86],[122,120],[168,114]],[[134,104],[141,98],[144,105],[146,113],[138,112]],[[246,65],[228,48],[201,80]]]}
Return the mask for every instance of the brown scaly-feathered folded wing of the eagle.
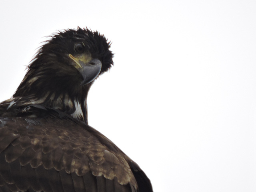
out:
{"label": "brown scaly-feathered folded wing of the eagle", "polygon": [[69,118],[0,118],[0,191],[136,192],[125,155]]}

